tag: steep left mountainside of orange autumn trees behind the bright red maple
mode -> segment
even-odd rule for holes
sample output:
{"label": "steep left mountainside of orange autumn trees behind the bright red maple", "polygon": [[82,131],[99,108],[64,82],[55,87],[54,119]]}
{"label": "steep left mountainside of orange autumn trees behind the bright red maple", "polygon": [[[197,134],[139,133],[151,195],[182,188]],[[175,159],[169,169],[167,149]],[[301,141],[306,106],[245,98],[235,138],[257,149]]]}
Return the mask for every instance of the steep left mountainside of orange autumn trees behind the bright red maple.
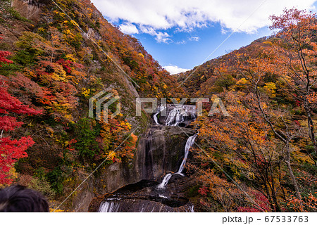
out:
{"label": "steep left mountainside of orange autumn trees behind the bright red maple", "polygon": [[[90,1],[55,2],[1,1],[0,49],[13,52],[12,64],[1,63],[1,82],[22,103],[42,110],[37,117],[13,115],[23,127],[4,132],[35,141],[8,176],[58,204],[105,160],[63,205],[87,211],[92,190],[104,193],[130,182],[123,177],[132,165],[136,135],[149,122],[146,113],[135,115],[136,98],[177,96],[182,89],[137,39],[108,23]],[[89,98],[102,90],[120,96],[120,114],[109,116],[108,123],[88,117]]]}

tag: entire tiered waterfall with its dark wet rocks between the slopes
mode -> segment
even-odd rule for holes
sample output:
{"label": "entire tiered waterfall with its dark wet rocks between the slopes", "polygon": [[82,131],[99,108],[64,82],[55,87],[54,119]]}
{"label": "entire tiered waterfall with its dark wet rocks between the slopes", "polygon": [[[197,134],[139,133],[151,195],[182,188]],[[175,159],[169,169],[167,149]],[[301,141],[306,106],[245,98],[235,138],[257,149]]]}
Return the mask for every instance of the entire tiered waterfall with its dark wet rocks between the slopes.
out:
{"label": "entire tiered waterfall with its dark wet rocks between the slopes", "polygon": [[[184,196],[181,180],[174,179],[180,186],[166,186],[173,175],[184,176],[182,172],[189,149],[197,137],[190,124],[196,119],[196,113],[195,105],[159,105],[153,115],[154,125],[148,129],[144,139],[140,139],[135,161],[139,181],[107,193],[92,212],[194,212],[194,205]],[[186,142],[183,131],[192,135]],[[173,161],[183,153],[182,162]],[[175,173],[166,174],[161,184],[156,182],[166,170],[177,169]]]}

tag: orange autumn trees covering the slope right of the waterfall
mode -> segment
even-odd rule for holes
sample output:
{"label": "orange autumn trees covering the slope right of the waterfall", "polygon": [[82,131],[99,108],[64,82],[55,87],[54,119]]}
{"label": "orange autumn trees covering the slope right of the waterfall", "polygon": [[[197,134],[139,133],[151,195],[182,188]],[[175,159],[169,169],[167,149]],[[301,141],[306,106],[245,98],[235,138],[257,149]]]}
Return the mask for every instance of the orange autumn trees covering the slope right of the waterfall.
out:
{"label": "orange autumn trees covering the slope right of the waterfall", "polygon": [[292,8],[271,20],[272,37],[204,63],[184,84],[217,94],[230,114],[194,122],[202,210],[316,212],[316,14]]}

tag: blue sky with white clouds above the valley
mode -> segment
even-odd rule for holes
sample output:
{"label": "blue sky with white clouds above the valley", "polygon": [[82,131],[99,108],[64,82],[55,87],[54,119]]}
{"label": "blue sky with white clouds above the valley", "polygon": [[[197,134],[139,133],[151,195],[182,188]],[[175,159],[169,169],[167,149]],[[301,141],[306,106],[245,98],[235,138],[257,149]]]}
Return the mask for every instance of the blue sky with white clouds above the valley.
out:
{"label": "blue sky with white clouds above the valley", "polygon": [[171,73],[271,35],[268,16],[284,8],[316,11],[316,0],[92,0],[104,17]]}

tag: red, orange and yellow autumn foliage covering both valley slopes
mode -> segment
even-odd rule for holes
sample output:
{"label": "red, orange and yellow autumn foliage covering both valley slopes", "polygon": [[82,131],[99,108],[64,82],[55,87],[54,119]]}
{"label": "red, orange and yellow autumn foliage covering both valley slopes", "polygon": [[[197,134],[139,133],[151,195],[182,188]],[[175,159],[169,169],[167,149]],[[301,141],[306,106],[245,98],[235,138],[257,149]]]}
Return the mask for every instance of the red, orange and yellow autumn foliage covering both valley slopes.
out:
{"label": "red, orange and yellow autumn foliage covering both valley slopes", "polygon": [[[195,209],[316,212],[315,14],[293,8],[273,15],[271,37],[171,76],[90,1],[56,3],[72,19],[47,4],[0,51],[0,184],[18,173],[15,181],[31,176],[25,184],[37,181],[40,191],[71,193],[94,169],[97,177],[113,164],[132,166],[140,134],[132,131],[149,122],[135,117],[136,96],[217,95],[230,117],[208,116],[206,103],[192,124],[201,146],[187,163]],[[22,20],[8,8],[0,18],[4,33]],[[123,105],[116,117],[109,108],[108,123],[88,117],[89,98],[102,90]]]}

